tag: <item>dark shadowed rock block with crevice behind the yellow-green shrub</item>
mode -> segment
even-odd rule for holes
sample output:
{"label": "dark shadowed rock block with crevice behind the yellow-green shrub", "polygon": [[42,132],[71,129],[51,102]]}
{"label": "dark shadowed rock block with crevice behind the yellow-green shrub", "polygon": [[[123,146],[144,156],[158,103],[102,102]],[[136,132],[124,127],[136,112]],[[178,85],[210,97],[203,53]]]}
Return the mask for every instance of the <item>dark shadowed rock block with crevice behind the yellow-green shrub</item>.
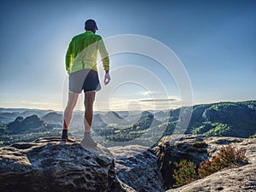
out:
{"label": "dark shadowed rock block with crevice behind the yellow-green shrub", "polygon": [[160,172],[168,188],[171,188],[175,183],[172,177],[175,162],[191,160],[199,166],[201,161],[207,160],[207,146],[200,144],[205,138],[204,136],[172,135],[163,137],[154,148],[158,157]]}

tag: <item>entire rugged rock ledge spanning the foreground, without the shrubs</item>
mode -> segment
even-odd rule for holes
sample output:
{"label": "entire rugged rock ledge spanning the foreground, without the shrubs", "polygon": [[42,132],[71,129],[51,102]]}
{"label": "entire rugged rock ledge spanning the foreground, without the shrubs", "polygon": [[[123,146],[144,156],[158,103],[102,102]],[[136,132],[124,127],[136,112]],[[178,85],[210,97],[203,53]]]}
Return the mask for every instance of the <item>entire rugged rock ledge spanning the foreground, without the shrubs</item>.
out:
{"label": "entire rugged rock ledge spanning the foreground, without the shrubs", "polygon": [[[191,160],[198,166],[224,145],[246,149],[249,164],[216,172],[177,189],[173,164]],[[58,137],[39,138],[0,148],[1,192],[168,192],[255,191],[256,139],[173,135],[155,148],[82,148]]]}

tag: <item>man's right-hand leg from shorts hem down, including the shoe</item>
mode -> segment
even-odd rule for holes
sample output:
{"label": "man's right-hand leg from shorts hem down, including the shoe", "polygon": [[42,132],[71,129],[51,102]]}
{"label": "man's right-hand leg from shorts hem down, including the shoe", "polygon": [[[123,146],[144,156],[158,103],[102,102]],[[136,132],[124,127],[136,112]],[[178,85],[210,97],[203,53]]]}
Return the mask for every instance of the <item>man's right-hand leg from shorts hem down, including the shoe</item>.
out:
{"label": "man's right-hand leg from shorts hem down, including the shoe", "polygon": [[95,143],[90,137],[95,95],[95,91],[86,91],[84,93],[84,139],[82,140],[81,144],[88,147],[96,147],[97,145],[97,143]]}

